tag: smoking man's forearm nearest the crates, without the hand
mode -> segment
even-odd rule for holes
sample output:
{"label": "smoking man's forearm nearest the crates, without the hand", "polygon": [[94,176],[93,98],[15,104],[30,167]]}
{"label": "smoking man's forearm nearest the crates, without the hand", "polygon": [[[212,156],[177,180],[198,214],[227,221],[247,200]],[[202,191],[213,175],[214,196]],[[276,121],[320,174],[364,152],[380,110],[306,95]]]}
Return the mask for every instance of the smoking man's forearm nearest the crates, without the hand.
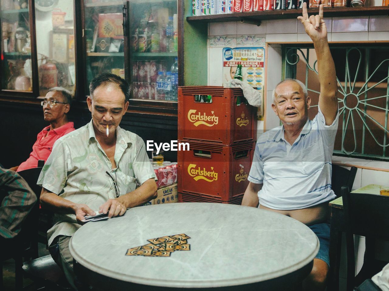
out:
{"label": "smoking man's forearm nearest the crates, without the hand", "polygon": [[126,195],[120,196],[121,200],[126,208],[133,208],[140,205],[144,205],[149,202],[151,199],[156,198],[157,185],[154,179],[149,179],[145,181],[138,189],[127,193]]}

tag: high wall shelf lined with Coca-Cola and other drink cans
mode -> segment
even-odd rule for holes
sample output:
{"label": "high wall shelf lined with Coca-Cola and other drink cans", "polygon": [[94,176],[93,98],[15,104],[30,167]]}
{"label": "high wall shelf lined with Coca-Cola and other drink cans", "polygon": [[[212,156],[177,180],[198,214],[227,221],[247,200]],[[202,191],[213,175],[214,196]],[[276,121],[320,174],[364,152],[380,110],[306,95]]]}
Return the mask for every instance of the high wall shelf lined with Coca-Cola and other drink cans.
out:
{"label": "high wall shelf lined with Coca-Cola and other drink cans", "polygon": [[297,18],[302,13],[303,2],[307,2],[308,14],[317,14],[319,5],[323,4],[326,17],[389,13],[388,0],[383,0],[383,6],[373,7],[364,7],[365,0],[217,0],[214,2],[216,7],[213,8],[202,7],[202,2],[196,0],[192,7],[193,16],[186,19],[189,22],[241,21],[260,25],[259,21],[266,19]]}

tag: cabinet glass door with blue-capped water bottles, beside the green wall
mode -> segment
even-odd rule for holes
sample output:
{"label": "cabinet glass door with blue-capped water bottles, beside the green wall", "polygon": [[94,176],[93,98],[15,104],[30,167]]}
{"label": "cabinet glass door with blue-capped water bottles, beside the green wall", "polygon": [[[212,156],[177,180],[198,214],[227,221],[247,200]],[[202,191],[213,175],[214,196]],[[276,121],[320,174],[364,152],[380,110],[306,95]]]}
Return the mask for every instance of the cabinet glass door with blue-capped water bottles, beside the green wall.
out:
{"label": "cabinet glass door with blue-capped water bottles, beside the green wall", "polygon": [[133,99],[177,101],[177,0],[130,1]]}

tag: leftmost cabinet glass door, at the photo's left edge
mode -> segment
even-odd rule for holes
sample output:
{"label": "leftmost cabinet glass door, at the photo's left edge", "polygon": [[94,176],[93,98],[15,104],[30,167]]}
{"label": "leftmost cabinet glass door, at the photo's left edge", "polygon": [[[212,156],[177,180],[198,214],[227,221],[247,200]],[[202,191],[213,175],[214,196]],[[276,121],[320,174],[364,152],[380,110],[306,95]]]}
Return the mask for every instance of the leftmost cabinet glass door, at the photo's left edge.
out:
{"label": "leftmost cabinet glass door, at the photo's left edge", "polygon": [[2,0],[1,89],[32,91],[32,62],[28,0]]}

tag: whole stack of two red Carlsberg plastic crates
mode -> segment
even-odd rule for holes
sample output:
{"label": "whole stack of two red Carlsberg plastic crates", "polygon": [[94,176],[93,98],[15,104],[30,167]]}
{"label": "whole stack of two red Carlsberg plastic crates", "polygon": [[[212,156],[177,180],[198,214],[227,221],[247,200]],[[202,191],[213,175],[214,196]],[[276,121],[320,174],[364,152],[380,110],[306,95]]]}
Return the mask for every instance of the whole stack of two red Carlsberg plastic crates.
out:
{"label": "whole stack of two red Carlsberg plastic crates", "polygon": [[238,88],[179,87],[179,202],[240,204],[249,184],[256,108]]}

